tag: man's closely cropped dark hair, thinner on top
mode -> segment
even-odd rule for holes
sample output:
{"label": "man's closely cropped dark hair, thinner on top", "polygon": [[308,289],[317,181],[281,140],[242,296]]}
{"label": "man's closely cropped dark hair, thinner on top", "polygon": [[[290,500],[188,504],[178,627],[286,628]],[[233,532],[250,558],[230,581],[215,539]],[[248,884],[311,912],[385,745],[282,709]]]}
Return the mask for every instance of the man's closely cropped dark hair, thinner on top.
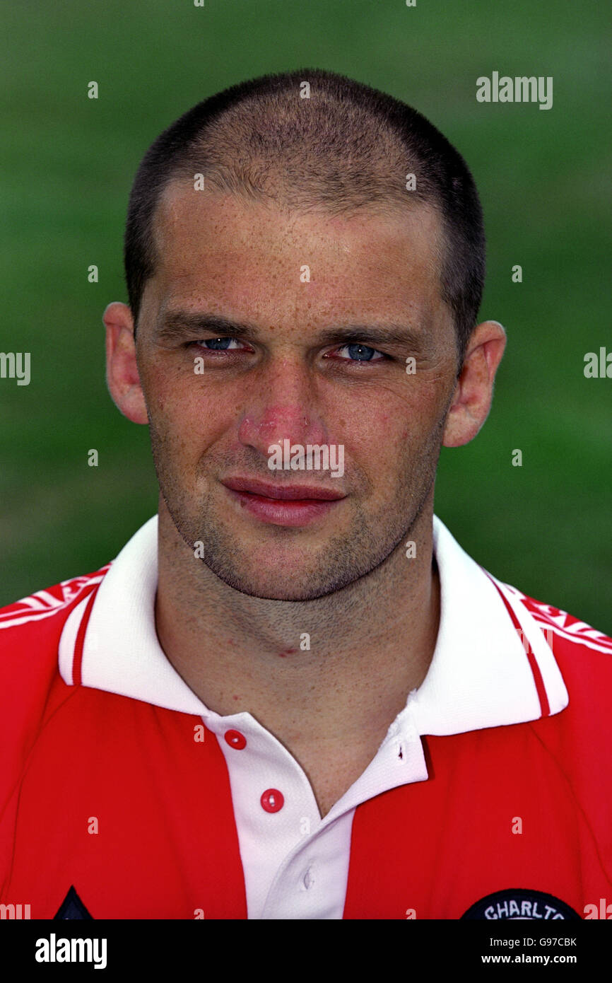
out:
{"label": "man's closely cropped dark hair, thinner on top", "polygon": [[320,69],[265,75],[198,102],[149,147],[132,187],[124,259],[135,327],[155,271],[157,204],[171,181],[199,173],[205,186],[296,209],[432,206],[441,296],[463,362],[484,284],[482,209],[464,158],[416,109]]}

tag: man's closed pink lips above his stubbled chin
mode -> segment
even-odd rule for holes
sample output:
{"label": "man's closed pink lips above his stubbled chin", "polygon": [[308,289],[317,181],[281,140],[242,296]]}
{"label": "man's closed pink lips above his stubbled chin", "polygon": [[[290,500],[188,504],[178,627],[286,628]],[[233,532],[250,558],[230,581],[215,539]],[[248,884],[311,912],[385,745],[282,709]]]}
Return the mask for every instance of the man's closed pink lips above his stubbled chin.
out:
{"label": "man's closed pink lips above his stubbled chin", "polygon": [[221,484],[255,518],[277,526],[305,526],[346,498],[320,486],[268,485],[256,478],[227,478]]}

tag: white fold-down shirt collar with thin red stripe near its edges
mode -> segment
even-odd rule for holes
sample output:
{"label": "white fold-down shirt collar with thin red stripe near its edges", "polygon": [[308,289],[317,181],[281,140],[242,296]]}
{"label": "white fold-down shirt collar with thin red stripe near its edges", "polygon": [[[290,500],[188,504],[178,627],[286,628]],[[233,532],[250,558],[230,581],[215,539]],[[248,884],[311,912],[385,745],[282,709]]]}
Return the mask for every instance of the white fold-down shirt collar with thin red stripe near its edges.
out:
{"label": "white fold-down shirt collar with thin red stripe near its edges", "polygon": [[[563,677],[527,608],[461,549],[437,516],[433,517],[433,549],[440,574],[440,626],[427,675],[410,698],[418,733],[462,733],[542,716],[525,642],[500,591],[529,642],[550,714],[563,710],[569,702]],[[156,589],[154,515],[121,550],[98,588],[84,633],[83,685],[219,721],[159,645]],[[83,599],[71,612],[60,640],[60,672],[69,685],[73,685],[75,647],[87,601]]]}

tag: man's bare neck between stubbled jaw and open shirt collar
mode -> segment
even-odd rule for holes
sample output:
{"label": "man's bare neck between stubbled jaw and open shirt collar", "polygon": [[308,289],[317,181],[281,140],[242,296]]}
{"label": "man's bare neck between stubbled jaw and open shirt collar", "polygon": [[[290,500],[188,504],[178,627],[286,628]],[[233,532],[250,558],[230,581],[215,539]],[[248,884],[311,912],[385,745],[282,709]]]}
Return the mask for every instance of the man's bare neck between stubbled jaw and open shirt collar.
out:
{"label": "man's bare neck between stubbled jaw and open shirt collar", "polygon": [[410,530],[414,558],[405,538],[349,587],[286,602],[241,594],[194,564],[161,500],[155,620],[170,663],[209,710],[247,711],[290,749],[306,739],[305,721],[311,741],[382,739],[422,682],[437,637],[427,504]]}

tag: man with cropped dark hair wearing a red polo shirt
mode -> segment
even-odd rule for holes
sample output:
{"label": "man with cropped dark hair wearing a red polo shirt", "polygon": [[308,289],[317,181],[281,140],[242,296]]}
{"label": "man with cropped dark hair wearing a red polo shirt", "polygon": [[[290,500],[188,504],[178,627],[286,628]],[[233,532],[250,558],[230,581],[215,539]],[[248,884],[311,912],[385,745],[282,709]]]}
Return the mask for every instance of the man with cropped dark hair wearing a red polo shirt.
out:
{"label": "man with cropped dark hair wearing a red polo shirt", "polygon": [[[584,917],[612,643],[433,515],[489,411],[472,176],[320,71],[149,148],[104,313],[159,513],[2,612],[1,900],[32,918]],[[477,490],[476,492],[477,493]]]}

